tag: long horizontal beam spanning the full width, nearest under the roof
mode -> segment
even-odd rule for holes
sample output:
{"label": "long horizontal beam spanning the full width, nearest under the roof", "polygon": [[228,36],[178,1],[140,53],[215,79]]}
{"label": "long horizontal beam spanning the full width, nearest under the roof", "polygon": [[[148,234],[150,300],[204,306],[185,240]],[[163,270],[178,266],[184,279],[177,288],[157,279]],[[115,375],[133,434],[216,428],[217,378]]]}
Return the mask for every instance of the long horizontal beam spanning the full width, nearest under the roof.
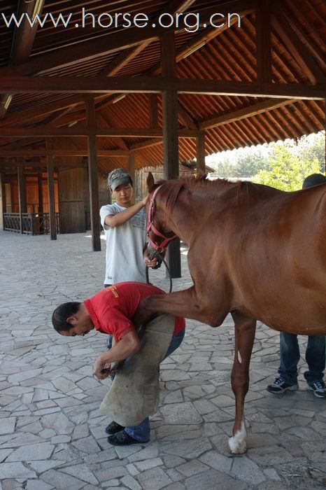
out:
{"label": "long horizontal beam spanning the full width, nearest under the roof", "polygon": [[235,95],[245,97],[285,97],[294,99],[325,98],[326,83],[258,83],[233,80],[205,80],[174,77],[29,77],[0,78],[0,93],[159,93],[176,90],[187,94]]}

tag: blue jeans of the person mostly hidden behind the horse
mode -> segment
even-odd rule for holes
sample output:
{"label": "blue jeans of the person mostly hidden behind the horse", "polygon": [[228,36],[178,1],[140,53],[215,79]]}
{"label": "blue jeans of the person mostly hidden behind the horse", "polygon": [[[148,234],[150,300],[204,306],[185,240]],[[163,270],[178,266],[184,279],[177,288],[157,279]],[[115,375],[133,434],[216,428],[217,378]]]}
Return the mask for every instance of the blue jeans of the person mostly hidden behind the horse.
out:
{"label": "blue jeans of the person mostly hidden behind the horse", "polygon": [[[280,334],[280,367],[278,374],[286,383],[297,383],[297,365],[300,351],[297,335],[281,332]],[[325,335],[309,336],[306,348],[308,371],[304,372],[307,384],[323,381],[325,371]]]}

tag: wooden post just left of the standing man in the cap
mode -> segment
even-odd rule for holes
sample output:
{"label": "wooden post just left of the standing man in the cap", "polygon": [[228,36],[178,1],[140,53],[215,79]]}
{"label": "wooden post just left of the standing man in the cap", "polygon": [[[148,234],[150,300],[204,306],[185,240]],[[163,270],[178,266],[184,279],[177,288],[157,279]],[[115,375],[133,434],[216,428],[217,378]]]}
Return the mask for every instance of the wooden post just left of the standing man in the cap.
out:
{"label": "wooden post just left of the standing man in the cap", "polygon": [[92,250],[101,250],[101,228],[99,221],[99,176],[97,174],[97,127],[94,99],[86,101],[88,179],[90,183],[90,224],[92,230]]}

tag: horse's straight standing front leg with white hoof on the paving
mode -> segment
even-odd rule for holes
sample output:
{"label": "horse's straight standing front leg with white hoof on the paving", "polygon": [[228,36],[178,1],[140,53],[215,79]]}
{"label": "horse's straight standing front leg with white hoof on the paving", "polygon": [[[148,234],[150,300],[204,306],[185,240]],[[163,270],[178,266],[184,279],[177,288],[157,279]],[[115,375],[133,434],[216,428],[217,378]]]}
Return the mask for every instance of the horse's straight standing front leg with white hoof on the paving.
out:
{"label": "horse's straight standing front leg with white hoof on the paving", "polygon": [[229,448],[232,453],[241,454],[246,451],[247,430],[243,404],[249,387],[249,365],[255,339],[256,321],[238,313],[232,313],[232,317],[235,326],[235,346],[231,382],[236,398],[236,418],[233,437],[229,438]]}

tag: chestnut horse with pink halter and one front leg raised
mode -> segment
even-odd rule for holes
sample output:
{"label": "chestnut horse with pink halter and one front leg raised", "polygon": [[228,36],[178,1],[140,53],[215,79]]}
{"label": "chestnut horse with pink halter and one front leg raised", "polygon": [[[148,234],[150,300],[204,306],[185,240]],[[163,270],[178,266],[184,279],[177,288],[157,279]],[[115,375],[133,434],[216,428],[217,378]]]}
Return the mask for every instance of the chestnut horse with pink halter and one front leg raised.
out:
{"label": "chestnut horse with pink halter and one front leg raised", "polygon": [[[189,246],[193,286],[154,295],[138,320],[153,313],[235,325],[232,453],[246,451],[243,403],[256,321],[283,332],[326,334],[326,184],[286,193],[249,182],[148,176],[148,237],[165,248],[176,235]],[[163,244],[163,246],[162,246]]]}

